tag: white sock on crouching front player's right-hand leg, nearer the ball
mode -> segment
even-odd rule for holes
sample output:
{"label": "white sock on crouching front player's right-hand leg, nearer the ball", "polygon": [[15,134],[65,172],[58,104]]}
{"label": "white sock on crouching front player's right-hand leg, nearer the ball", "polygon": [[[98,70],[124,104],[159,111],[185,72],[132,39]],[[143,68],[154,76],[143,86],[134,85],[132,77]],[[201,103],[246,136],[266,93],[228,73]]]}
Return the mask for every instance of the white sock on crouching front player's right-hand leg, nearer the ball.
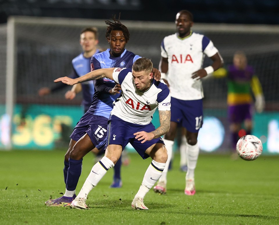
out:
{"label": "white sock on crouching front player's right-hand leg, nearer the ball", "polygon": [[135,195],[135,198],[142,197],[146,195],[147,192],[155,185],[157,180],[162,175],[162,170],[165,168],[166,163],[160,163],[152,160],[151,164],[148,166],[144,178],[142,180],[142,184],[140,185],[140,189]]}

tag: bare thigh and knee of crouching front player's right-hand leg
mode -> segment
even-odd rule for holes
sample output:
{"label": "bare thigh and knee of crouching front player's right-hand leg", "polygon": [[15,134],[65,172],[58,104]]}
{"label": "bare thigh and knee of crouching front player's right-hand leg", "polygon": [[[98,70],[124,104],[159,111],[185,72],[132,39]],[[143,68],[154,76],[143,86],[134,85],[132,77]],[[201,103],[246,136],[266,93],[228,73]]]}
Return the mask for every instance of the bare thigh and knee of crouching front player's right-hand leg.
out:
{"label": "bare thigh and knee of crouching front player's right-hand leg", "polygon": [[167,162],[168,153],[167,149],[162,143],[155,143],[145,151],[153,160],[160,163]]}

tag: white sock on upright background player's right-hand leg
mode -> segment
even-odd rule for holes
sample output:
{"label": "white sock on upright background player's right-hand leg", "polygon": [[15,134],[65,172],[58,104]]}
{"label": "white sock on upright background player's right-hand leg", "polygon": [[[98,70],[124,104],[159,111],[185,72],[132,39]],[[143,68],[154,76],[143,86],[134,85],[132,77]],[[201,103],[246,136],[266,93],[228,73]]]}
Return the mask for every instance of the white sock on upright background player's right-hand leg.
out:
{"label": "white sock on upright background player's right-hand leg", "polygon": [[189,145],[188,143],[186,143],[186,146],[187,146],[186,155],[187,155],[187,166],[188,166],[188,170],[186,173],[186,180],[187,180],[187,179],[194,179],[194,172],[198,161],[199,147],[198,147],[198,143],[196,143],[195,145]]}

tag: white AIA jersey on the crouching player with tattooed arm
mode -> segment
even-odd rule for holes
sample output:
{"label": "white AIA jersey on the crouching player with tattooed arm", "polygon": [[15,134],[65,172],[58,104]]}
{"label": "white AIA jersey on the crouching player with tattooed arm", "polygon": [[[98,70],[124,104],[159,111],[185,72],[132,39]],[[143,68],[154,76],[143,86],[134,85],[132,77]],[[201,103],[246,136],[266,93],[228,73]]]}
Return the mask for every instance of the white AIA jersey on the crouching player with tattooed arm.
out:
{"label": "white AIA jersey on the crouching player with tattooed arm", "polygon": [[135,87],[132,70],[116,68],[112,74],[116,83],[121,84],[121,95],[115,100],[111,115],[124,121],[146,125],[158,107],[159,111],[171,110],[171,96],[167,85],[154,79],[150,88],[140,91]]}

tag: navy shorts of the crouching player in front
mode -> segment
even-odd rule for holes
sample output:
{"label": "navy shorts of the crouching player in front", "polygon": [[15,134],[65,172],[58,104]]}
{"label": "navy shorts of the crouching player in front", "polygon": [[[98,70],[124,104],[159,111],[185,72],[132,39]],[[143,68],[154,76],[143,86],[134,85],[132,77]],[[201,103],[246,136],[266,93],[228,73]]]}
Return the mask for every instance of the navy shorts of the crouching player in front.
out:
{"label": "navy shorts of the crouching player in front", "polygon": [[112,115],[108,120],[107,145],[121,145],[123,150],[130,143],[143,159],[147,159],[149,155],[145,153],[146,149],[156,143],[164,144],[164,141],[160,137],[141,143],[142,140],[138,141],[135,139],[134,133],[139,131],[152,132],[154,130],[155,127],[152,123],[138,125],[126,122]]}

